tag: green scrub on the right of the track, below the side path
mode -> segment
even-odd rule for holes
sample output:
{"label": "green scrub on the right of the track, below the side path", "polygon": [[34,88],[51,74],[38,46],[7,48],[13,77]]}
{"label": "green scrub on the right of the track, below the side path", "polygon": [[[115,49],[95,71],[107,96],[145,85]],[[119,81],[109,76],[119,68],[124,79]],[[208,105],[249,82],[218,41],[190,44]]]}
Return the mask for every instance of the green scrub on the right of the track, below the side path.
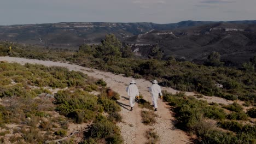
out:
{"label": "green scrub on the right of the track, below the side path", "polygon": [[[208,105],[206,101],[186,97],[182,93],[164,93],[177,119],[176,126],[191,135],[195,143],[256,143],[256,125],[250,122],[241,105]],[[233,111],[228,114],[224,111]],[[237,121],[240,120],[240,121]]]}

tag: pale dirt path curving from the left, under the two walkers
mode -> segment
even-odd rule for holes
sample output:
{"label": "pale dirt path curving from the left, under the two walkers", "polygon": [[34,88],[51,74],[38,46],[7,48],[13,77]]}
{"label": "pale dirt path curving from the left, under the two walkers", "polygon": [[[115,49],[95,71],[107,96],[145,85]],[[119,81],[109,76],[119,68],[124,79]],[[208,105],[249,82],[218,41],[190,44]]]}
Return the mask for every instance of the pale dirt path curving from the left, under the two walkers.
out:
{"label": "pale dirt path curving from the left, under the two walkers", "polygon": [[[149,128],[155,129],[156,133],[160,136],[160,143],[190,143],[190,137],[182,130],[175,129],[172,125],[172,120],[174,117],[171,115],[171,111],[168,109],[166,103],[161,103],[158,101],[159,107],[156,112],[159,117],[156,118],[157,122],[153,126],[146,126],[141,121],[141,108],[135,105],[135,109],[131,112],[129,106],[129,100],[125,92],[125,88],[132,80],[131,77],[124,77],[122,75],[115,75],[112,73],[99,71],[95,69],[81,67],[75,64],[52,62],[52,61],[39,61],[37,59],[26,59],[26,58],[16,58],[16,57],[0,57],[0,61],[6,62],[16,62],[20,64],[33,63],[33,64],[43,64],[45,66],[59,66],[66,67],[69,70],[81,71],[88,76],[96,77],[98,79],[103,79],[107,82],[107,86],[112,88],[114,91],[120,94],[120,100],[118,100],[119,105],[122,107],[121,115],[123,116],[123,122],[118,123],[121,128],[121,134],[124,137],[124,143],[145,143],[147,142],[144,136],[146,130]],[[148,87],[151,83],[144,79],[137,79],[136,84],[141,93],[147,101],[152,102],[150,94],[148,92]],[[177,91],[172,88],[162,88],[171,93],[176,93]],[[186,92],[187,95],[194,95],[194,93]],[[205,98],[205,100],[216,99],[217,97]],[[226,100],[218,98],[220,103]]]}

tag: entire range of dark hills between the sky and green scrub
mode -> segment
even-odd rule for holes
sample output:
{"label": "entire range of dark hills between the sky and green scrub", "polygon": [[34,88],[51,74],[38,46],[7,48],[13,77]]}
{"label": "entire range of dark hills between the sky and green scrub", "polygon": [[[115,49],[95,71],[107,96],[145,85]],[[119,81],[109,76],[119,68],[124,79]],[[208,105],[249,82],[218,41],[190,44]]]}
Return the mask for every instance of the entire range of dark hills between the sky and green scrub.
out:
{"label": "entire range of dark hills between the sky and green scrub", "polygon": [[121,41],[134,45],[133,49],[140,46],[144,56],[150,47],[159,45],[165,56],[189,61],[201,61],[211,51],[217,51],[226,61],[244,62],[255,55],[254,32],[256,21],[60,22],[0,26],[0,40],[77,49],[81,44],[100,43],[106,34],[113,33]]}

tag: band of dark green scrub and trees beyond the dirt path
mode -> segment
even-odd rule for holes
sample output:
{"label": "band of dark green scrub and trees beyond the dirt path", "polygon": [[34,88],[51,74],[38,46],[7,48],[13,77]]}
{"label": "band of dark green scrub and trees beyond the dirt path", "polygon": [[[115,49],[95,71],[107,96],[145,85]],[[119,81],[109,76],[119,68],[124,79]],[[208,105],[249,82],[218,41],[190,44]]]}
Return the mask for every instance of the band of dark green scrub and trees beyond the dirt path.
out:
{"label": "band of dark green scrub and trees beyond the dirt path", "polygon": [[[9,45],[13,45],[12,51],[9,51]],[[241,69],[222,66],[218,53],[214,52],[208,57],[205,65],[178,62],[173,57],[162,58],[160,50],[152,51],[149,59],[140,59],[133,56],[131,47],[121,44],[113,34],[106,35],[106,39],[102,40],[100,45],[82,45],[77,52],[39,50],[37,47],[28,49],[24,46],[2,43],[0,55],[68,61],[136,78],[160,79],[160,85],[180,91],[194,91],[229,100],[240,99],[252,105],[256,102],[256,56],[248,62],[250,68]],[[217,83],[222,84],[223,88],[218,88]]]}

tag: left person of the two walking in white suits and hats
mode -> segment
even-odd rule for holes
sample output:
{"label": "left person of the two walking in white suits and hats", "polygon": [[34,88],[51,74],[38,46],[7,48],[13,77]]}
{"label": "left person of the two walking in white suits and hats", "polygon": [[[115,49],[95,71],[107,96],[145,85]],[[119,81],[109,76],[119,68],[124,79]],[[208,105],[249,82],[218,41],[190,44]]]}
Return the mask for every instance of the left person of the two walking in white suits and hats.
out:
{"label": "left person of the two walking in white suits and hats", "polygon": [[126,92],[129,96],[130,106],[132,111],[133,106],[135,105],[136,96],[139,95],[138,87],[136,86],[136,82],[134,80],[130,82],[130,85],[126,88]]}

